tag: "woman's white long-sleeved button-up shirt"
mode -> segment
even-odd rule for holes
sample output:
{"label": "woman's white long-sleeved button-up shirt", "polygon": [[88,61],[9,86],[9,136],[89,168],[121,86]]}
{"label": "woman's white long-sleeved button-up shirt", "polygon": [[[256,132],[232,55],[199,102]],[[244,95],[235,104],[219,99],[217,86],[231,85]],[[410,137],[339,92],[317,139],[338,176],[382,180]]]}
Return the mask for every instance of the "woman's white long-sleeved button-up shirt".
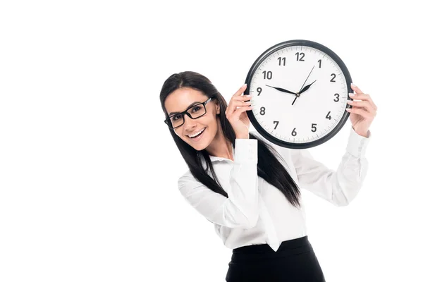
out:
{"label": "woman's white long-sleeved button-up shirt", "polygon": [[[257,131],[252,133],[281,154],[287,164],[282,162],[283,166],[300,190],[307,189],[336,206],[347,205],[360,190],[367,173],[364,153],[370,131],[363,137],[350,128],[345,154],[336,171],[314,160],[307,149],[280,147]],[[276,252],[281,242],[307,235],[304,207],[293,207],[280,190],[257,175],[257,140],[235,139],[233,151],[233,161],[210,156],[228,197],[207,188],[189,170],[178,180],[180,193],[197,212],[214,223],[223,244],[234,249],[267,243]],[[203,158],[202,164],[205,168]]]}

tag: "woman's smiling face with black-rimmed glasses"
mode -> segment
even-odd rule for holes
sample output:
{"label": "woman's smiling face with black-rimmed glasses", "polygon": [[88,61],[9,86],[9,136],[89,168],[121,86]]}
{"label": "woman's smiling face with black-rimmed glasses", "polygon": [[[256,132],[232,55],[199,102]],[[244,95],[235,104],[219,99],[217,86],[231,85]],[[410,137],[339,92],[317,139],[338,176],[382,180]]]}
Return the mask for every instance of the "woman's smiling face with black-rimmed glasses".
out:
{"label": "woman's smiling face with black-rimmed glasses", "polygon": [[[188,109],[192,104],[202,103],[207,101],[207,97],[203,92],[194,90],[190,87],[182,87],[173,91],[168,95],[164,102],[164,107],[169,116],[173,113],[180,113]],[[178,128],[174,128],[176,135],[188,143],[197,151],[205,149],[214,140],[218,130],[218,120],[216,114],[219,114],[219,106],[212,100],[206,104],[207,113],[200,118],[192,119],[187,114],[184,115],[185,123]],[[200,105],[201,106],[201,105]],[[182,117],[179,117],[182,118]],[[191,138],[188,135],[195,135],[204,130],[198,138]]]}

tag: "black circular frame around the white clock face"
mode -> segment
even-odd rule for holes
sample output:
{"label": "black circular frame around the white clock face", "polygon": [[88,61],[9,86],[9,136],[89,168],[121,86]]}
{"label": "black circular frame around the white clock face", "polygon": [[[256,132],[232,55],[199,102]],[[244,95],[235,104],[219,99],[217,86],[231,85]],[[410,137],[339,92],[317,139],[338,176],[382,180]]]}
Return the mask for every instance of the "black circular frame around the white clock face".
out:
{"label": "black circular frame around the white clock face", "polygon": [[[281,43],[278,43],[278,44],[270,47],[269,49],[264,51],[257,58],[257,60],[252,64],[250,71],[248,71],[247,78],[245,79],[245,83],[247,83],[247,88],[245,89],[245,92],[244,92],[245,95],[250,94],[250,82],[252,80],[252,75],[255,73],[258,66],[265,59],[267,59],[268,56],[273,54],[275,51],[278,51],[279,49],[283,49],[283,48],[286,48],[286,47],[291,47],[291,46],[313,47],[315,49],[323,51],[325,54],[330,56],[333,59],[333,61],[338,63],[338,66],[341,68],[341,71],[343,72],[343,75],[344,75],[346,83],[347,83],[348,93],[353,92],[353,90],[351,89],[351,86],[350,86],[351,82],[353,82],[353,80],[351,80],[350,72],[348,71],[348,68],[345,66],[345,63],[343,63],[341,58],[338,55],[336,55],[335,52],[333,52],[328,47],[326,47],[322,44],[319,44],[317,42],[313,42],[313,41],[309,41],[309,40],[303,40],[303,39],[294,39],[294,40],[289,40],[289,41],[286,41],[286,42],[281,42]],[[353,99],[351,99],[350,96],[348,95],[348,100],[352,101]],[[350,106],[349,104],[346,104],[345,109],[350,109],[350,108],[352,108],[352,106]],[[269,133],[267,133],[267,131],[264,130],[264,128],[262,128],[262,125],[259,124],[259,122],[255,118],[255,115],[252,113],[252,111],[247,111],[247,116],[248,116],[248,118],[250,118],[250,122],[252,123],[252,125],[254,125],[257,132],[260,133],[264,138],[266,138],[266,140],[269,140],[270,142],[272,142],[276,145],[279,145],[281,147],[286,147],[286,148],[290,148],[290,149],[307,149],[307,148],[311,148],[311,147],[321,145],[324,142],[331,139],[333,136],[335,136],[336,133],[338,133],[339,130],[341,130],[341,128],[343,128],[343,125],[345,125],[345,122],[348,120],[348,116],[350,116],[350,113],[348,111],[344,111],[344,114],[341,118],[341,121],[339,121],[338,125],[336,125],[336,127],[333,128],[333,130],[331,130],[331,132],[329,134],[326,134],[324,137],[321,137],[319,140],[314,140],[312,142],[307,142],[307,143],[293,143],[293,142],[286,142],[286,141],[279,140],[278,138],[274,137],[273,135],[270,135]]]}

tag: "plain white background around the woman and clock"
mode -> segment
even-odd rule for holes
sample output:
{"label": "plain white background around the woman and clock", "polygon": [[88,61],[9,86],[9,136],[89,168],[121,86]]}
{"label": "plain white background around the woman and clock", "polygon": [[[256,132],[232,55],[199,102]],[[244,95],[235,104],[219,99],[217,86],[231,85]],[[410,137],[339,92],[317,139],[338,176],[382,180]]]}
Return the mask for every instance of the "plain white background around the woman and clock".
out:
{"label": "plain white background around the woman and clock", "polygon": [[[326,281],[422,281],[421,10],[386,2],[1,1],[0,281],[224,281],[159,92],[197,71],[229,101],[290,39],[335,51],[379,108],[355,200],[303,193]],[[310,152],[336,168],[349,127]]]}

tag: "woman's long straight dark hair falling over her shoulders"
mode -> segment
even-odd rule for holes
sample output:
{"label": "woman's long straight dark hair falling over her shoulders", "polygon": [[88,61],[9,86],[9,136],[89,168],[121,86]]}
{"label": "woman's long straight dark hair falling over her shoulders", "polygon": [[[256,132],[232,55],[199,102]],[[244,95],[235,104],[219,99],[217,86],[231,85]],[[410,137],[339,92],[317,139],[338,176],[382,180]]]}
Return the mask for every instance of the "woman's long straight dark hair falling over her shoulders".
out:
{"label": "woman's long straight dark hair falling over her shoulders", "polygon": [[[163,87],[161,87],[160,102],[161,108],[165,114],[165,118],[168,118],[168,114],[164,106],[166,97],[168,97],[168,94],[171,94],[173,91],[180,87],[191,87],[192,89],[203,92],[207,97],[214,97],[215,99],[212,101],[216,101],[216,103],[218,103],[220,106],[220,112],[225,113],[227,107],[226,100],[223,98],[220,92],[216,90],[216,87],[214,87],[212,82],[200,73],[184,71],[171,75],[164,82]],[[217,117],[220,119],[223,135],[226,137],[226,140],[231,141],[235,147],[235,131],[233,130],[231,123],[229,123],[225,114],[218,114]],[[223,188],[221,188],[221,185],[217,180],[216,173],[214,172],[212,161],[210,160],[208,152],[205,149],[197,152],[196,149],[188,145],[184,140],[180,139],[180,137],[176,135],[172,128],[169,128],[169,132],[171,133],[173,140],[175,141],[176,146],[180,151],[180,154],[182,154],[183,159],[185,159],[185,162],[188,164],[188,168],[190,168],[192,176],[207,186],[207,188],[210,190],[228,197],[228,194],[225,192],[225,190],[223,190]],[[278,190],[281,190],[286,199],[288,199],[288,201],[293,204],[294,207],[299,208],[299,198],[301,195],[300,189],[298,188],[293,178],[291,178],[288,171],[286,171],[285,167],[281,164],[280,161],[278,161],[278,159],[276,159],[276,155],[282,161],[285,162],[285,160],[283,160],[281,155],[278,154],[274,147],[266,144],[264,141],[260,140],[259,137],[256,137],[252,133],[249,135],[250,139],[257,140],[258,176],[266,180],[271,185],[274,185],[276,188],[278,188]],[[207,166],[205,169],[202,166],[200,155],[206,161]],[[211,178],[207,173],[209,168],[212,171],[212,176],[214,176],[214,179]]]}

